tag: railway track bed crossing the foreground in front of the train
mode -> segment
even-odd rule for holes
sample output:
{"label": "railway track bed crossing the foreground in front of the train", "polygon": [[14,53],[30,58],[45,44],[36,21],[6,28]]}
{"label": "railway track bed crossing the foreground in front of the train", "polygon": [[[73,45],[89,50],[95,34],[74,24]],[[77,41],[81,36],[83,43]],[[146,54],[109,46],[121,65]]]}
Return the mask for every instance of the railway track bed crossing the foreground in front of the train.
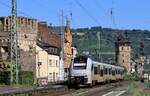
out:
{"label": "railway track bed crossing the foreground in front of the train", "polygon": [[[104,85],[97,85],[92,88],[82,86],[82,88],[68,89],[66,86],[53,86],[51,88],[38,88],[38,89],[20,89],[17,91],[7,91],[5,94],[1,94],[0,96],[20,96],[20,94],[25,94],[25,96],[102,96],[107,92],[113,91],[114,88],[123,86],[127,84],[127,81],[109,83]],[[97,94],[97,95],[96,95]],[[101,94],[101,95],[100,95]],[[24,95],[23,95],[24,96]]]}

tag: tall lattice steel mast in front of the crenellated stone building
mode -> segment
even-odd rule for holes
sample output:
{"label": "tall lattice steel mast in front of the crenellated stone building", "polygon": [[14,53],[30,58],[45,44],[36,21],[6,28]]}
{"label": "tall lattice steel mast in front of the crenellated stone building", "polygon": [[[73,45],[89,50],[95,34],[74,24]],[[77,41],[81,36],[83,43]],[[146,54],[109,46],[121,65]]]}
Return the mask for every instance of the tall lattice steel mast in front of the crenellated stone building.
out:
{"label": "tall lattice steel mast in front of the crenellated stone building", "polygon": [[12,3],[11,33],[10,33],[11,83],[15,81],[15,83],[18,84],[17,1],[12,0],[11,3]]}

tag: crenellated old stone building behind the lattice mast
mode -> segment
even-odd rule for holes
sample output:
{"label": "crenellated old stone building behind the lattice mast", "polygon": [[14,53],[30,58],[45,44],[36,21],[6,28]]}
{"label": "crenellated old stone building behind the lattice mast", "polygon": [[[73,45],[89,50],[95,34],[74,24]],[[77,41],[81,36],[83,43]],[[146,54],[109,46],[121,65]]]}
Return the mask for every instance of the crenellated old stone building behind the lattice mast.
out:
{"label": "crenellated old stone building behind the lattice mast", "polygon": [[[9,36],[11,32],[11,16],[0,17],[0,26],[0,30],[3,31],[2,34],[7,34],[7,36]],[[35,72],[37,31],[38,23],[36,19],[20,16],[17,17],[19,60],[22,71],[34,70]],[[8,41],[7,38],[4,40]]]}

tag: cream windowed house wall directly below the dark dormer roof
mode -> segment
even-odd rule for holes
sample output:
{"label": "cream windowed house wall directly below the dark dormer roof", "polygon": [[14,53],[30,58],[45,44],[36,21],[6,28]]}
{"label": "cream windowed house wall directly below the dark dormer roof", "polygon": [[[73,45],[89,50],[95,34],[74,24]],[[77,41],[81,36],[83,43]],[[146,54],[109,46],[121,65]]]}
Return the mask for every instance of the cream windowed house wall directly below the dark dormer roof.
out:
{"label": "cream windowed house wall directly below the dark dormer roof", "polygon": [[[56,64],[57,63],[57,64]],[[48,55],[48,81],[59,81],[60,77],[60,61],[57,55]]]}

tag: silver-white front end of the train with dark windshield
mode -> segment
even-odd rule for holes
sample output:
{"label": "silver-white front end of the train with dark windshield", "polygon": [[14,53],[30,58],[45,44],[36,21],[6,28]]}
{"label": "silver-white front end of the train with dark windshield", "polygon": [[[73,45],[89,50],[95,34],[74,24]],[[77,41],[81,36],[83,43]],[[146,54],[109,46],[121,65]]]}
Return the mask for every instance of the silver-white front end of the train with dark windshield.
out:
{"label": "silver-white front end of the train with dark windshield", "polygon": [[90,84],[91,79],[91,59],[85,56],[76,57],[70,68],[69,81],[73,85]]}

